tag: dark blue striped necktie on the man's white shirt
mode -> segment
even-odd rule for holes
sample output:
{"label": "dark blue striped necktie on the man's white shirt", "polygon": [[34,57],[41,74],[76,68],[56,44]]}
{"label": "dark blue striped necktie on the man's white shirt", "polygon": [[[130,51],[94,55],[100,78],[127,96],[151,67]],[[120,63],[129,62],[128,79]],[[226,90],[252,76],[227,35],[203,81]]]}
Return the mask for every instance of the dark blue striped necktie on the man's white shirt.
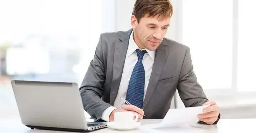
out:
{"label": "dark blue striped necktie on the man's white shirt", "polygon": [[145,70],[142,64],[142,59],[146,50],[136,50],[138,61],[133,68],[132,75],[130,77],[126,100],[130,104],[142,108],[143,96],[144,96],[144,85],[145,85]]}

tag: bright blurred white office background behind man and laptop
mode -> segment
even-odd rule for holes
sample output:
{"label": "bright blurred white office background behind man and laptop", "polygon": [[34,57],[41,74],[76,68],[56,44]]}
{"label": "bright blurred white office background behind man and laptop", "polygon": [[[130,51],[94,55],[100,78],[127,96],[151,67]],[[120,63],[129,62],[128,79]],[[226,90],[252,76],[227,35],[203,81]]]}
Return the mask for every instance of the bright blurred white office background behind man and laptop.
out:
{"label": "bright blurred white office background behind man and laptop", "polygon": [[[170,1],[165,37],[191,48],[208,99],[222,118],[256,118],[256,1]],[[0,117],[19,117],[11,79],[80,85],[100,34],[131,28],[134,2],[0,0]],[[171,108],[180,107],[177,93]]]}

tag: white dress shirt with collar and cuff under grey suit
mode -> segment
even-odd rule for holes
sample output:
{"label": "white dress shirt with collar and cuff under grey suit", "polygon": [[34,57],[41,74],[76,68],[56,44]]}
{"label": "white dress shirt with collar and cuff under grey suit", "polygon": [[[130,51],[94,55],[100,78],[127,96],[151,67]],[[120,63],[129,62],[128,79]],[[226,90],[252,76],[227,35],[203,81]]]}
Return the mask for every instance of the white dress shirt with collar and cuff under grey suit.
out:
{"label": "white dress shirt with collar and cuff under grey suit", "polygon": [[[133,31],[132,31],[129,39],[128,49],[126,53],[126,60],[124,62],[124,68],[123,68],[122,78],[121,78],[120,86],[118,89],[117,97],[116,97],[116,100],[114,101],[114,106],[108,107],[106,110],[103,111],[101,119],[104,121],[108,122],[111,112],[114,109],[119,108],[124,104],[124,102],[122,101],[122,99],[119,98],[119,96],[126,99],[126,93],[127,93],[130,77],[132,75],[133,68],[138,61],[138,56],[135,51],[136,49],[139,49],[139,47],[137,46],[137,44],[133,39]],[[144,49],[144,50],[146,50],[147,53],[144,54],[143,60],[142,60],[144,70],[145,70],[145,87],[144,87],[143,100],[145,99],[146,90],[148,88],[149,78],[151,75],[151,71],[152,71],[152,67],[155,59],[155,51],[150,51],[148,49]]]}

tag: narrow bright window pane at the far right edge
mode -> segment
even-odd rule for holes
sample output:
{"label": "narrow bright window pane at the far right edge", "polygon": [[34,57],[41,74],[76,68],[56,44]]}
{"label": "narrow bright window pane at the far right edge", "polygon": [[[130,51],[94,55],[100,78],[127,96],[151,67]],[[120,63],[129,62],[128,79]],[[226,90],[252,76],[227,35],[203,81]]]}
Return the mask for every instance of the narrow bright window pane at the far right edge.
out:
{"label": "narrow bright window pane at the far right edge", "polygon": [[238,9],[238,91],[256,91],[255,0],[239,0]]}

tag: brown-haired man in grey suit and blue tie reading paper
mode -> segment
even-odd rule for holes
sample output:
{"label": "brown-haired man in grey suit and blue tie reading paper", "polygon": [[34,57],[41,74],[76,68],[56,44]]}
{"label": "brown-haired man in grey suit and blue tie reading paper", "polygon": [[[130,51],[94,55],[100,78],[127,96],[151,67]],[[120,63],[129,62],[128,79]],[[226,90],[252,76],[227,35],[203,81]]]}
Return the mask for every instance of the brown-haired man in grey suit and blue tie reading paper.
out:
{"label": "brown-haired man in grey suit and blue tie reading paper", "polygon": [[118,111],[137,113],[138,121],[162,119],[177,89],[186,107],[210,104],[198,115],[200,123],[218,122],[218,106],[197,83],[190,49],[164,38],[172,13],[169,0],[137,0],[132,29],[100,35],[80,87],[84,109],[95,121],[114,121]]}

